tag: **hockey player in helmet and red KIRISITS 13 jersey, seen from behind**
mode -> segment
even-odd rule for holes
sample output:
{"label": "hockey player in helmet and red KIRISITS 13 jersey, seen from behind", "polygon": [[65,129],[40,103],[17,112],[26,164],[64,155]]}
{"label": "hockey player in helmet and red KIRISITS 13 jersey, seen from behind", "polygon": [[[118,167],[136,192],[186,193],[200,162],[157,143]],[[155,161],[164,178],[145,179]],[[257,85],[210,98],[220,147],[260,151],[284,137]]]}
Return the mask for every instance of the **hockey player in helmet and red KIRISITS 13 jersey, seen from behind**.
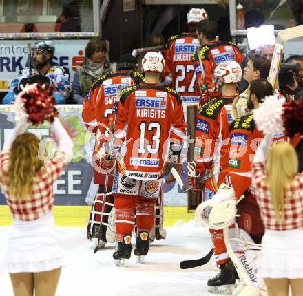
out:
{"label": "hockey player in helmet and red KIRISITS 13 jersey, seen from behind", "polygon": [[[145,83],[121,92],[114,134],[121,141],[113,185],[118,242],[113,257],[117,265],[127,264],[131,256],[135,209],[138,231],[134,254],[140,262],[147,255],[164,164],[169,152],[178,158],[185,139],[180,96],[159,85],[164,65],[162,54],[147,52],[143,58]],[[111,161],[114,166],[114,158]],[[105,163],[104,169],[108,167]]]}

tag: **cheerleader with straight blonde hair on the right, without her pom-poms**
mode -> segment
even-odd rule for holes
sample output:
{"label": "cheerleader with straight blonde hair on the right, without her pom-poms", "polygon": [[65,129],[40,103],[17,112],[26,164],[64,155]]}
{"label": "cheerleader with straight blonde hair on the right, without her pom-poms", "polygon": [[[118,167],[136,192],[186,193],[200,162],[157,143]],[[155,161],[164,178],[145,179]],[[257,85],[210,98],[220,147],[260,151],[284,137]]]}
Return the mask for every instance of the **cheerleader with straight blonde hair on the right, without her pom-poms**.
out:
{"label": "cheerleader with straight blonde hair on the right, without her pom-poms", "polygon": [[[259,274],[268,295],[303,295],[303,173],[295,149],[266,135],[253,160],[252,186],[265,226]],[[269,155],[264,162],[264,155]]]}

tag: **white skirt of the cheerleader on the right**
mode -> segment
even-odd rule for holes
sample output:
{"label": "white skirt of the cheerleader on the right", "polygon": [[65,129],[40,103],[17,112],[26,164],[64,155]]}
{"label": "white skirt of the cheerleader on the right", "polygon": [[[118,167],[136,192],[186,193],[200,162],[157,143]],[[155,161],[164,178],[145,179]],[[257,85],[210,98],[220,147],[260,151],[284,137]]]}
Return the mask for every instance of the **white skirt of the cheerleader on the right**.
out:
{"label": "white skirt of the cheerleader on the right", "polygon": [[303,229],[267,229],[258,273],[263,278],[303,278]]}

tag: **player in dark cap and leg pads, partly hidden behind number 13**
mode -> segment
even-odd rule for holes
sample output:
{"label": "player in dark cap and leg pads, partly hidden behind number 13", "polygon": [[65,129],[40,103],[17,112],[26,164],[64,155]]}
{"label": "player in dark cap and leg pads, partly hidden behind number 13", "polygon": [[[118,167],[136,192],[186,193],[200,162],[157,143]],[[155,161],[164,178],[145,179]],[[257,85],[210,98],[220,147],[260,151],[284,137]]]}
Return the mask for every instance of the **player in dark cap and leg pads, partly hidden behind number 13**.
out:
{"label": "player in dark cap and leg pads, partly hidden behind number 13", "polygon": [[87,237],[95,241],[101,229],[99,246],[104,246],[107,241],[114,242],[114,237],[109,238],[107,232],[108,215],[103,215],[104,224],[100,225],[104,196],[106,196],[107,202],[104,211],[107,214],[112,211],[114,198],[111,193],[113,176],[109,176],[105,192],[105,174],[101,172],[99,167],[99,158],[103,154],[103,144],[105,143],[107,128],[110,128],[112,125],[112,111],[118,88],[123,89],[141,83],[144,80],[142,74],[135,71],[136,64],[136,58],[132,54],[121,56],[121,59],[118,61],[117,71],[101,76],[101,78],[95,81],[83,101],[82,118],[88,130],[95,134],[96,142],[92,166],[94,169],[94,184],[99,184],[98,194],[92,204],[92,213],[87,225]]}

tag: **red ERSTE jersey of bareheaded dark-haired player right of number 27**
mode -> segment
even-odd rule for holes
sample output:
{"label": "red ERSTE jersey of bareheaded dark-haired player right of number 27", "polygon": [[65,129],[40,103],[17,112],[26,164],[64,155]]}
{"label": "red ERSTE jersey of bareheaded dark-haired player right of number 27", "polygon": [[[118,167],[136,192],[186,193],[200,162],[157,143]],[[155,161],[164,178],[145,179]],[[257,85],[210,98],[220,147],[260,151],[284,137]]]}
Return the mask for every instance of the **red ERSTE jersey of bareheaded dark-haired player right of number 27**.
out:
{"label": "red ERSTE jersey of bareheaded dark-haired player right of number 27", "polygon": [[[217,65],[225,61],[236,61],[241,64],[243,56],[238,47],[232,42],[218,41],[204,45],[200,48],[200,58],[202,61],[203,69],[205,71],[205,83],[209,90],[209,96],[216,98],[220,93],[215,91],[215,83],[213,82],[213,72]],[[207,93],[205,90],[205,83],[203,83],[200,61],[197,50],[193,54],[192,63],[197,76],[197,83],[200,89],[201,101],[207,102]]]}

